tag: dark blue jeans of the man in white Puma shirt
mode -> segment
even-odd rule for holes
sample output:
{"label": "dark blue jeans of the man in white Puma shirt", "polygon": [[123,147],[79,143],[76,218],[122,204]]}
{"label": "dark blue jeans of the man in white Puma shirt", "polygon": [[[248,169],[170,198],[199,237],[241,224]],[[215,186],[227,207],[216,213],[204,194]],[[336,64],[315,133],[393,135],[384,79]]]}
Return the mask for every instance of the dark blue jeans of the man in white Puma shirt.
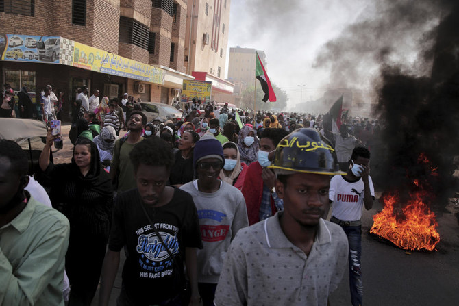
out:
{"label": "dark blue jeans of the man in white Puma shirt", "polygon": [[341,225],[349,241],[349,287],[353,306],[362,305],[363,284],[360,258],[362,257],[362,225],[347,227]]}

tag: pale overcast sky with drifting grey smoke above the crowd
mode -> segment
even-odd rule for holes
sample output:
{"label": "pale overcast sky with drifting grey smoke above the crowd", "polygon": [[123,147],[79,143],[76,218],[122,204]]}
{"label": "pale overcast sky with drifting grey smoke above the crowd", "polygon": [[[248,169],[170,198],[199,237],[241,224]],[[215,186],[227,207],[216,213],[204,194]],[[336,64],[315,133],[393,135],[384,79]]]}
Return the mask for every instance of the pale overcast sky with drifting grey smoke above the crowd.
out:
{"label": "pale overcast sky with drifting grey smoke above the crowd", "polygon": [[[371,76],[377,75],[377,61],[392,64],[395,59],[414,65],[419,59],[417,51],[412,50],[423,39],[425,30],[438,21],[429,18],[432,15],[429,3],[424,0],[232,0],[228,48],[263,50],[268,75],[273,83],[286,90],[291,109],[299,104],[301,96],[303,103],[318,99],[330,86],[349,86],[351,79],[351,85],[370,90]],[[421,18],[415,16],[399,22],[407,14],[418,14]],[[358,26],[349,27],[352,24]],[[330,41],[334,43],[325,47]],[[227,54],[229,57],[229,50]],[[336,54],[339,57],[333,56]]]}

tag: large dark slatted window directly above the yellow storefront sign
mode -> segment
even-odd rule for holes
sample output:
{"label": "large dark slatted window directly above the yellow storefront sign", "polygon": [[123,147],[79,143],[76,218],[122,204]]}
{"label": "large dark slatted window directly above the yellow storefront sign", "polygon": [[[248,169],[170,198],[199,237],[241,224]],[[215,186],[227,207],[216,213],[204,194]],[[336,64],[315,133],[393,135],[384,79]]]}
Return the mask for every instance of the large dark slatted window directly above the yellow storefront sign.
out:
{"label": "large dark slatted window directly above the yellow storefront sign", "polygon": [[149,27],[127,17],[119,20],[119,42],[149,50]]}

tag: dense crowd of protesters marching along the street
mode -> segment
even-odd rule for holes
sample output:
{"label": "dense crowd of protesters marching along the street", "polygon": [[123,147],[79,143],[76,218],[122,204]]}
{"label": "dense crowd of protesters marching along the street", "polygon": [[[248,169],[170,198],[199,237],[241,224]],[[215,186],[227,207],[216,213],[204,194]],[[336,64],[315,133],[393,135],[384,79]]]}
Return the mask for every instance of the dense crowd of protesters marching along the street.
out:
{"label": "dense crowd of protesters marching along the street", "polygon": [[[50,92],[42,96],[46,122],[58,118],[47,110]],[[90,305],[100,280],[99,305],[108,305],[123,249],[117,305],[325,305],[347,260],[351,301],[362,305],[360,218],[374,199],[369,149],[377,120],[343,117],[334,131],[321,115],[193,101],[182,120],[153,125],[136,105],[128,94],[99,100],[98,90],[88,98],[82,88],[73,102],[72,160],[53,164],[60,135],[50,129],[38,188],[27,189],[27,169],[8,150],[27,157],[2,140],[0,181],[12,188],[0,188],[0,267],[9,267],[0,278],[15,283],[0,288],[0,302],[47,304],[52,296],[55,305],[67,298]],[[41,186],[52,213],[37,208]],[[11,232],[15,220],[44,218],[30,223],[40,230],[30,229],[36,233],[27,240],[45,239],[45,215],[58,229],[34,244],[42,254],[8,257],[17,254],[3,235],[21,235]],[[48,242],[49,259],[41,249]]]}

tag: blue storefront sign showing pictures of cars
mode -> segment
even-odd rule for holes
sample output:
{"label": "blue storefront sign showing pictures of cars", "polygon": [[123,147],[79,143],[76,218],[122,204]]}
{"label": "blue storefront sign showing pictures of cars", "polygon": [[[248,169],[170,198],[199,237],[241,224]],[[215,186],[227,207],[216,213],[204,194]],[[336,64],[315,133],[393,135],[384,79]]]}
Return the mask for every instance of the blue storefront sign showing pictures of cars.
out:
{"label": "blue storefront sign showing pictures of cars", "polygon": [[59,64],[60,37],[0,34],[0,60]]}

